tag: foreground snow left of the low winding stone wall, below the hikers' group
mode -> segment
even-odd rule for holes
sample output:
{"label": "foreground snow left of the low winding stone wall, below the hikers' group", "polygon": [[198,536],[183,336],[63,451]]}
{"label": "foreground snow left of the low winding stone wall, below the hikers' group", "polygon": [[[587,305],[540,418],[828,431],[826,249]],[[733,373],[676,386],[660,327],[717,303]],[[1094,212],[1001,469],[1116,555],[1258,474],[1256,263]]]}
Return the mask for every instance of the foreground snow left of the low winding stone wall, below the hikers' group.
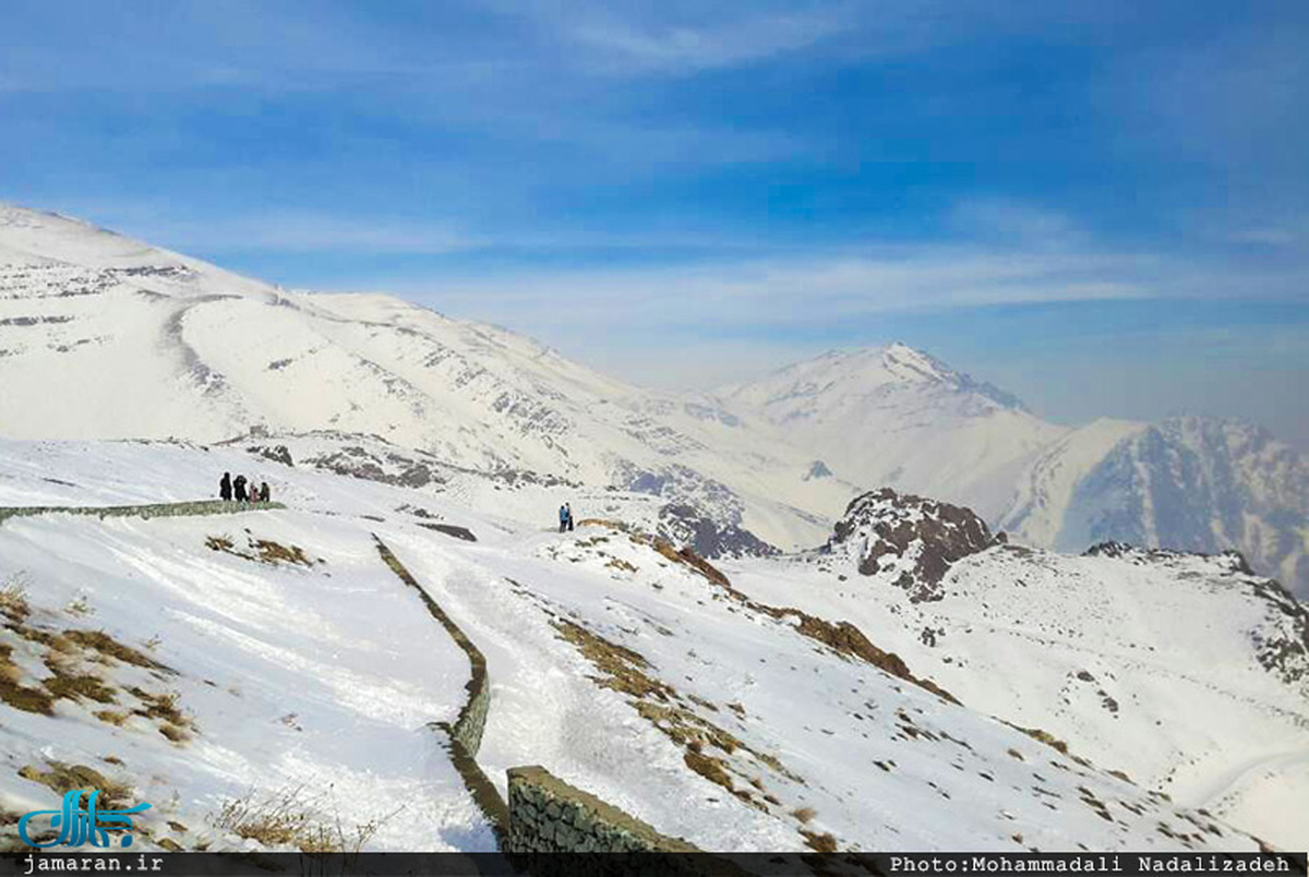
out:
{"label": "foreground snow left of the low winding stone wall, below the hikers' group", "polygon": [[[246,528],[322,562],[271,568],[204,547],[225,534],[240,546]],[[122,689],[115,704],[59,700],[52,717],[7,708],[7,810],[50,806],[48,789],[16,774],[59,761],[127,778],[153,805],[145,825],[183,843],[216,834],[208,821],[225,801],[300,787],[323,823],[348,814],[347,830],[403,806],[402,819],[381,826],[384,847],[491,843],[425,726],[457,715],[466,662],[416,598],[387,580],[360,528],[301,513],[22,518],[0,529],[0,577],[18,571],[30,581],[33,624],[106,631],[136,649],[156,641],[151,657],[177,675],[143,682],[134,675],[145,674],[115,666],[103,671]],[[76,598],[89,605],[85,618],[65,609]],[[24,645],[12,632],[5,641]],[[130,709],[134,682],[179,695],[194,723],[188,742],[171,743],[148,719],[117,728],[92,715]],[[170,819],[190,832],[169,831]]]}

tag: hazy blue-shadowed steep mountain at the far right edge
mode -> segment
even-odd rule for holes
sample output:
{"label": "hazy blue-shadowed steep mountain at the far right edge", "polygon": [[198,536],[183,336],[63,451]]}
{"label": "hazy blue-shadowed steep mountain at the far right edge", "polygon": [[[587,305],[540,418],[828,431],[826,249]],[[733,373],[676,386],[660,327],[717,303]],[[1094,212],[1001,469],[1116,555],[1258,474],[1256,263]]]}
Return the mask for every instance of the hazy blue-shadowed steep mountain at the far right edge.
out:
{"label": "hazy blue-shadowed steep mountain at the far right edge", "polygon": [[1309,461],[1237,421],[1092,424],[1033,463],[1000,525],[1062,551],[1110,539],[1207,554],[1238,548],[1257,569],[1305,592]]}

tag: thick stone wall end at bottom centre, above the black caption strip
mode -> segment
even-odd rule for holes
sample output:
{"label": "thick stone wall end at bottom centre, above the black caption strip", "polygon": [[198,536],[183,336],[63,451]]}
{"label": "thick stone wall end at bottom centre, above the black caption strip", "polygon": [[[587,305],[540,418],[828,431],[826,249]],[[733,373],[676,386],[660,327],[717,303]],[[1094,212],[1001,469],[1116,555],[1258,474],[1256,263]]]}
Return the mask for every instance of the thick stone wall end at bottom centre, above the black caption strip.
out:
{"label": "thick stone wall end at bottom centre, above the black caption strip", "polygon": [[509,768],[507,852],[699,852],[543,767]]}

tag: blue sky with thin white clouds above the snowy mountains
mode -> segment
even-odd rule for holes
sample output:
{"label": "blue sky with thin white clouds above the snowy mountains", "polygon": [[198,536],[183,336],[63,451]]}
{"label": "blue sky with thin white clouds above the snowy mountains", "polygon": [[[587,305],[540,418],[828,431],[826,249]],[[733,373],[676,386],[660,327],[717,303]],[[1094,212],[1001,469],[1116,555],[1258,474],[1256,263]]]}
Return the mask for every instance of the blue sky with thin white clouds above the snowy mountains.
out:
{"label": "blue sky with thin white clouds above the snowy mountains", "polygon": [[0,199],[643,384],[901,339],[1309,446],[1302,0],[7,0]]}

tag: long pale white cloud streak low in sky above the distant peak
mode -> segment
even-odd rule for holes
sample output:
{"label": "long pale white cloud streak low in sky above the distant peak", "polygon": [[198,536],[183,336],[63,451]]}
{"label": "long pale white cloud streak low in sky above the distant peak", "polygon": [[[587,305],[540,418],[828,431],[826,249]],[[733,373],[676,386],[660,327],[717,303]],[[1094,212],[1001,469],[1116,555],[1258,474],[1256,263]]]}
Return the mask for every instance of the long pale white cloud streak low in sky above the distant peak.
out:
{"label": "long pale white cloud streak low in sky above the distant peak", "polygon": [[511,325],[730,332],[834,326],[920,308],[1147,297],[1160,270],[1157,258],[1131,254],[923,246],[393,285],[441,310]]}

